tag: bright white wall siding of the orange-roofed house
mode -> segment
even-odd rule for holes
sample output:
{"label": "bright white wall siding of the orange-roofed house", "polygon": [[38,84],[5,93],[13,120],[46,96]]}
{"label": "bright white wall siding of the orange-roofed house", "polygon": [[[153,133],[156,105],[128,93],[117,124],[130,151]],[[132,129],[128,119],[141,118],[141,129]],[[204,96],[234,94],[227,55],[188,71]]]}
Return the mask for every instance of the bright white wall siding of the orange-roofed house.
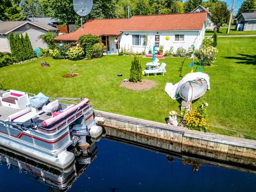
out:
{"label": "bright white wall siding of the orange-roofed house", "polygon": [[[146,50],[146,54],[151,47],[153,50],[153,46],[155,44],[155,35],[160,35],[160,45],[164,46],[164,52],[169,51],[170,47],[173,46],[174,52],[178,49],[178,47],[183,47],[184,49],[188,49],[194,42],[196,49],[198,49],[202,45],[202,40],[204,37],[205,28],[203,27],[200,31],[145,31],[145,32],[130,32],[124,31],[122,34],[122,38],[120,40],[120,47],[125,47],[126,50],[131,50],[133,52],[142,52]],[[126,34],[126,35],[125,35]],[[132,35],[148,35],[148,44],[147,46],[139,46],[132,45]],[[175,42],[175,35],[184,35],[183,42]],[[169,36],[170,39],[167,41],[165,39],[166,36]],[[159,47],[156,47],[156,50],[159,50]]]}

